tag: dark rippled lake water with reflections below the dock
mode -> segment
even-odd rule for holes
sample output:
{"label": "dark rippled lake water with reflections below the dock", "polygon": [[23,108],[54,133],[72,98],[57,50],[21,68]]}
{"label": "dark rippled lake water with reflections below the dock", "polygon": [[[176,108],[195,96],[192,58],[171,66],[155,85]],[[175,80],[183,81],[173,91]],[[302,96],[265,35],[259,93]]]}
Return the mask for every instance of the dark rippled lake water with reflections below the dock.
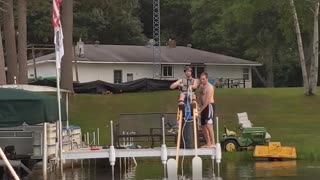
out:
{"label": "dark rippled lake water with reflections below the dock", "polygon": [[[142,179],[164,179],[164,169],[160,160],[154,159],[137,159],[138,165],[134,163],[121,164],[115,168],[115,180],[142,180]],[[191,179],[191,159],[185,160],[183,166],[184,179]],[[216,165],[215,165],[216,167]],[[181,174],[181,169],[179,174]],[[203,159],[203,176],[204,179],[214,179],[217,175],[217,169],[212,170],[211,160]],[[313,180],[319,179],[320,162],[305,161],[265,161],[265,162],[248,162],[248,161],[223,161],[221,164],[221,176],[224,180],[237,179],[272,179],[272,180]],[[43,177],[34,175],[24,179],[38,180]],[[65,170],[63,175],[51,173],[48,180],[94,180],[94,179],[112,179],[112,171],[108,161],[104,160],[98,163],[94,160],[86,162],[83,167]],[[216,178],[217,179],[217,178]],[[222,179],[222,178],[219,178]]]}

